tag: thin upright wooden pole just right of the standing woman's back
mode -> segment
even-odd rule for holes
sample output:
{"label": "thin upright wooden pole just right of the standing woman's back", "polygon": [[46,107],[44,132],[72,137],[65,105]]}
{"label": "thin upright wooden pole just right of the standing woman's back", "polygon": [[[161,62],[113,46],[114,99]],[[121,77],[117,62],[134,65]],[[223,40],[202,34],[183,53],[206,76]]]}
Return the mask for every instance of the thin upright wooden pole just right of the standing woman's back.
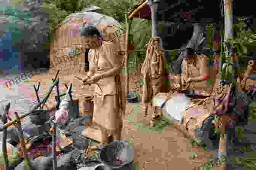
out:
{"label": "thin upright wooden pole just right of the standing woman's back", "polygon": [[[126,42],[125,42],[125,92],[127,99],[128,92],[129,92],[129,74],[128,74],[128,43],[129,43],[129,24],[128,24],[128,18],[127,14],[125,14],[125,24],[126,24]],[[128,100],[126,100],[127,102]]]}

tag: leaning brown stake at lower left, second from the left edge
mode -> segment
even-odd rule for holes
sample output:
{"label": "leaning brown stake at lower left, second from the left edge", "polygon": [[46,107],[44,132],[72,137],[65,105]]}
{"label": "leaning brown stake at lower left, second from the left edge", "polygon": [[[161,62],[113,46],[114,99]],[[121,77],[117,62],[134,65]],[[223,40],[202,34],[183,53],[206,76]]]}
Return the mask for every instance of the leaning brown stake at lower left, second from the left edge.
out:
{"label": "leaning brown stake at lower left, second from the left edge", "polygon": [[24,169],[25,170],[30,170],[31,165],[30,165],[30,160],[29,160],[28,155],[27,155],[27,149],[26,149],[26,145],[25,145],[23,132],[22,132],[21,121],[20,121],[18,113],[14,112],[14,114],[15,114],[15,119],[18,120],[19,142],[21,143],[21,149],[22,149],[22,152],[24,154],[24,161],[25,161],[25,165],[24,165],[25,168]]}

